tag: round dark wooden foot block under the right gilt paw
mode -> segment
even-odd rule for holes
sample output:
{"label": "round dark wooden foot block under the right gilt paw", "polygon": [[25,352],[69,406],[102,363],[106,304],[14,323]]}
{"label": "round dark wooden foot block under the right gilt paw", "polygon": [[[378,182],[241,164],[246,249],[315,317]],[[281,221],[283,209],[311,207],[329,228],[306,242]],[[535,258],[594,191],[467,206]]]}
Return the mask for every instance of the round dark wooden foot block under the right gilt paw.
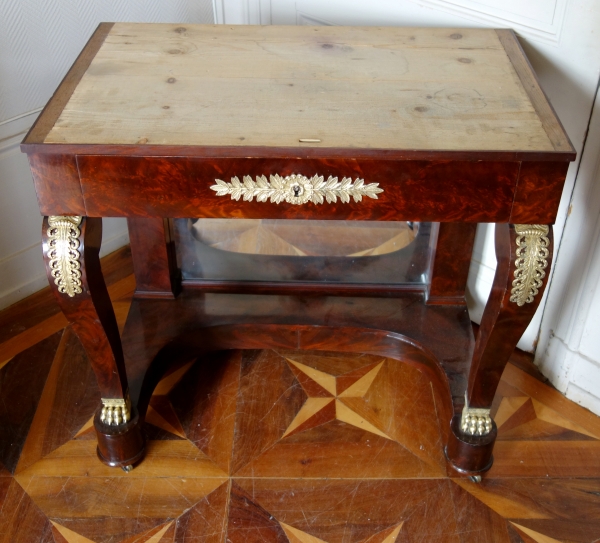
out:
{"label": "round dark wooden foot block under the right gilt paw", "polygon": [[498,430],[492,421],[492,431],[485,436],[469,436],[460,431],[460,416],[454,415],[446,446],[446,458],[459,473],[477,476],[492,467],[492,451]]}

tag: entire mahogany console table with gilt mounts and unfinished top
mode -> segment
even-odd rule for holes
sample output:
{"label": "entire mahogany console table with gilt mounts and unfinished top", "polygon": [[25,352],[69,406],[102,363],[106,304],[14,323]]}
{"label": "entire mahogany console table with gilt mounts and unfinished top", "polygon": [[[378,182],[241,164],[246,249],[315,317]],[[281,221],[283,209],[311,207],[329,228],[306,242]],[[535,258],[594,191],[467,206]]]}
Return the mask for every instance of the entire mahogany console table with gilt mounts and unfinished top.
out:
{"label": "entire mahogany console table with gilt mounts and unfinished top", "polygon": [[[448,469],[490,468],[490,407],[546,286],[575,158],[512,31],[103,23],[22,149],[50,285],[100,387],[100,460],[142,459],[171,364],[299,348],[419,367]],[[102,217],[128,218],[137,289],[122,338]],[[205,248],[194,275],[177,218],[409,221],[418,234],[366,260]],[[465,285],[482,222],[496,223],[498,266],[475,338]]]}

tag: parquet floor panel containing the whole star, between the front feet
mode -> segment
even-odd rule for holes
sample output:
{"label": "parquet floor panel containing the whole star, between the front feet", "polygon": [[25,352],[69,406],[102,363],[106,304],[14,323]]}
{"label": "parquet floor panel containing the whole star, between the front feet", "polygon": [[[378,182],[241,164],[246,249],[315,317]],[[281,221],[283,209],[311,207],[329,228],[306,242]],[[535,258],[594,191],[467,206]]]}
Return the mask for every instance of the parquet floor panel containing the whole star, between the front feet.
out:
{"label": "parquet floor panel containing the whole star, between the front feet", "polygon": [[[431,418],[435,412],[431,387],[419,371],[375,355],[279,353],[281,357],[263,355],[258,360],[244,357],[250,360],[238,400],[240,435],[234,457],[250,462],[238,467],[240,462],[236,476],[377,478],[445,473],[437,420]],[[261,383],[272,379],[268,376],[280,376],[286,367],[298,370],[291,372],[292,381],[276,378],[266,387],[272,389],[268,394],[257,396]],[[322,382],[328,397],[318,392],[315,396],[299,374]],[[340,388],[350,381],[354,387]],[[298,404],[293,401],[297,383],[305,392]],[[402,394],[397,394],[399,390]],[[317,403],[316,408],[298,426],[296,420],[311,402]],[[409,408],[416,404],[422,411]]]}

